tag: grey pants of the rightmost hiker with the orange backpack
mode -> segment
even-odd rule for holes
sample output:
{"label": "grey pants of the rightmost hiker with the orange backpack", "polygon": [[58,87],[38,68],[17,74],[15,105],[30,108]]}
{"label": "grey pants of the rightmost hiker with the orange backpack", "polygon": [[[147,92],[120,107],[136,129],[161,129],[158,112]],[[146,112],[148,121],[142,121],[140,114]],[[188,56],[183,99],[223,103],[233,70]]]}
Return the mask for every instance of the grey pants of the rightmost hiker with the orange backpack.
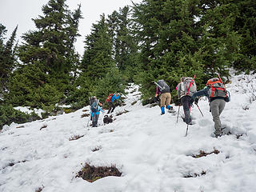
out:
{"label": "grey pants of the rightmost hiker with the orange backpack", "polygon": [[214,120],[214,134],[219,136],[222,134],[222,122],[219,118],[220,114],[224,110],[226,102],[223,99],[215,99],[214,101],[210,102],[210,110]]}

